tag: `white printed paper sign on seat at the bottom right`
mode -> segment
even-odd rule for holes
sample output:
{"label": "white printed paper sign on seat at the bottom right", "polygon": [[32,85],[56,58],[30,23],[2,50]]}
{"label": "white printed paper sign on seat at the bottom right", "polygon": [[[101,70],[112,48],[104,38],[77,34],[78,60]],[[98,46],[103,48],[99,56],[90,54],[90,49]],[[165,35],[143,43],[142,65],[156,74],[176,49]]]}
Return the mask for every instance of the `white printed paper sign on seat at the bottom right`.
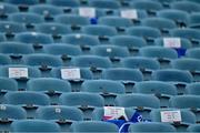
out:
{"label": "white printed paper sign on seat at the bottom right", "polygon": [[181,122],[180,111],[161,111],[161,122]]}

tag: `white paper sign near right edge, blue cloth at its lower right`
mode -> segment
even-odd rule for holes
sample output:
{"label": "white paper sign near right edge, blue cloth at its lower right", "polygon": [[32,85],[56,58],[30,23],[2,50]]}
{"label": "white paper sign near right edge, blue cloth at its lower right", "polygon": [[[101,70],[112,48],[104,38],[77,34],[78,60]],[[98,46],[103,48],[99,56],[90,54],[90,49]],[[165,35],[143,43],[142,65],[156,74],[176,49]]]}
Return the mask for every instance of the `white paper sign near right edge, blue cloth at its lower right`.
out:
{"label": "white paper sign near right edge, blue cloth at its lower right", "polygon": [[181,48],[180,38],[163,38],[164,48]]}

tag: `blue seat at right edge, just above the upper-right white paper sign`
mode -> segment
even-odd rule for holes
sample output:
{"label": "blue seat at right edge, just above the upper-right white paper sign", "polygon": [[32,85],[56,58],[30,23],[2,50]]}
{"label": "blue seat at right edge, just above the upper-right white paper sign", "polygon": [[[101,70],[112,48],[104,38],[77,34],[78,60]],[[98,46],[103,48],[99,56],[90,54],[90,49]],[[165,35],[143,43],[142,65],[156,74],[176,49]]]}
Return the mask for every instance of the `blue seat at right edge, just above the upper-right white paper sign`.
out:
{"label": "blue seat at right edge, just above the upper-right white paper sign", "polygon": [[189,39],[192,43],[192,47],[199,47],[200,32],[197,29],[173,29],[170,31],[170,34],[172,37]]}

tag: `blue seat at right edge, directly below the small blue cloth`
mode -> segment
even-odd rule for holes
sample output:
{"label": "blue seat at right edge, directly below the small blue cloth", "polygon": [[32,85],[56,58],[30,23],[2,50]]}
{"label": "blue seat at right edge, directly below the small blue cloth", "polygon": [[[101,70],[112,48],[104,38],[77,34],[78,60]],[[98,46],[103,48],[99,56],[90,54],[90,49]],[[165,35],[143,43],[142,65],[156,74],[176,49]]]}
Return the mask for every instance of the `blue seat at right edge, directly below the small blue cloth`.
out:
{"label": "blue seat at right edge, directly below the small blue cloth", "polygon": [[182,58],[179,60],[172,60],[171,61],[171,66],[173,69],[179,69],[179,70],[187,70],[190,71],[190,73],[193,75],[193,80],[196,82],[200,81],[199,76],[199,71],[200,71],[200,61],[197,59],[188,59],[188,58]]}

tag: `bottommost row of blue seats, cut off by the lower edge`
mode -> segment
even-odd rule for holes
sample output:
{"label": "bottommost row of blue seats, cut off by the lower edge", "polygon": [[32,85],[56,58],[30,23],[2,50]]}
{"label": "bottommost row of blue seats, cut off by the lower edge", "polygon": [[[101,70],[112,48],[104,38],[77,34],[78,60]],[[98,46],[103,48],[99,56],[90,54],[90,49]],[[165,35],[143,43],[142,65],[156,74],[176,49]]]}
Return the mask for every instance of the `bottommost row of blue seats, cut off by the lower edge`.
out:
{"label": "bottommost row of blue seats, cut off by the lower edge", "polygon": [[[36,129],[37,126],[37,129]],[[21,120],[16,121],[11,125],[13,132],[60,132],[61,129],[58,124],[41,120]],[[118,127],[114,124],[101,121],[93,122],[76,122],[71,125],[71,132],[112,132],[118,133]],[[176,132],[177,130],[170,124],[163,124],[158,122],[151,123],[136,123],[131,124],[129,127],[130,133],[139,132]],[[197,132],[199,131],[199,125],[190,125],[186,131]]]}

